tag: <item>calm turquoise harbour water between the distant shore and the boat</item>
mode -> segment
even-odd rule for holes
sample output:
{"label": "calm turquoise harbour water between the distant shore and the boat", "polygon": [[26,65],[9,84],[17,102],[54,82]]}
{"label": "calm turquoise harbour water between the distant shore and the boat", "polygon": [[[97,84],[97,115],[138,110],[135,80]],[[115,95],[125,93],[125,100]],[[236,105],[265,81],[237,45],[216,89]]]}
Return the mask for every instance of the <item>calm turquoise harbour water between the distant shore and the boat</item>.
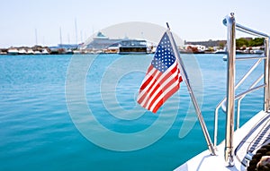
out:
{"label": "calm turquoise harbour water between the distant shore and the boat", "polygon": [[[175,94],[163,107],[163,113],[154,115],[136,104],[143,71],[147,70],[151,57],[0,56],[0,170],[172,170],[193,155],[207,150],[198,122],[185,132],[184,138],[179,138],[181,126],[194,123],[195,118],[194,114],[185,118],[190,100],[184,82],[178,93],[180,98]],[[193,57],[197,64],[193,64]],[[226,63],[222,61],[222,55],[193,57],[184,55],[184,63],[188,73],[202,75],[202,84],[200,78],[194,77],[191,81],[199,82],[194,83],[194,88],[203,87],[202,115],[212,137],[213,111],[225,95]],[[90,61],[91,66],[87,68],[85,61]],[[69,75],[68,71],[74,63],[76,67]],[[244,73],[252,63],[240,62],[238,73]],[[83,113],[81,99],[76,99],[76,90],[81,84],[76,80],[84,75],[84,68],[87,69],[83,77],[84,100],[95,120],[108,130],[122,134],[138,133],[156,123],[161,116],[159,122],[162,127],[171,122],[174,117],[171,115],[175,114],[177,107],[178,114],[173,118],[172,125],[156,141],[138,150],[121,150],[123,146],[130,148],[136,144],[132,141],[123,144],[110,136],[100,139],[108,146],[115,143],[113,147],[117,146],[120,150],[108,150],[89,141],[89,137],[80,130],[80,125],[72,120],[68,104],[74,105],[78,115]],[[256,70],[252,78],[260,72]],[[67,95],[68,82],[74,94]],[[239,90],[245,90],[247,86],[244,84]],[[242,102],[244,115],[241,115],[241,124],[262,108],[261,99],[262,90],[247,95]],[[224,138],[224,119],[225,115],[220,113],[219,141]],[[89,125],[90,132],[101,136],[102,129],[93,125]],[[134,143],[147,141],[139,135],[132,138]]]}

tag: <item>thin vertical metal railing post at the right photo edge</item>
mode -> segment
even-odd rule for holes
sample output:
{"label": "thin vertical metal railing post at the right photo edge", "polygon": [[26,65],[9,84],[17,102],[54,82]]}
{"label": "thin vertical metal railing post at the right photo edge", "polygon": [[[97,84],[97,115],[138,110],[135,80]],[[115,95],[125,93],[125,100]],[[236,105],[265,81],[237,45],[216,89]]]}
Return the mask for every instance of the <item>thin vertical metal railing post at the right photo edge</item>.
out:
{"label": "thin vertical metal railing post at the right photo edge", "polygon": [[266,56],[266,59],[265,59],[265,84],[266,84],[266,87],[265,87],[265,100],[264,100],[264,110],[265,112],[268,112],[269,111],[269,98],[270,98],[270,82],[269,82],[269,76],[270,76],[270,66],[269,66],[269,38],[266,37],[265,38],[265,56]]}

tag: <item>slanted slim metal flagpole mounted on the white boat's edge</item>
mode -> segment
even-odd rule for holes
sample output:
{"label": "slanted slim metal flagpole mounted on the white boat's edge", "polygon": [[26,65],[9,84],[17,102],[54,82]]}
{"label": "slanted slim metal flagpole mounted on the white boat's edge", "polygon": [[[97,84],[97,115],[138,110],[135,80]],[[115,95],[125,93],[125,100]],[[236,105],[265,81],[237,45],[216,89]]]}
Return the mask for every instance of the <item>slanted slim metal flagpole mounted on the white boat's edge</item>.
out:
{"label": "slanted slim metal flagpole mounted on the white boat's edge", "polygon": [[203,133],[204,138],[205,138],[205,140],[207,142],[208,148],[211,151],[211,155],[216,155],[216,152],[214,150],[213,144],[211,142],[211,138],[210,138],[209,132],[207,130],[206,124],[205,124],[204,119],[203,119],[203,116],[202,116],[201,109],[200,109],[200,107],[199,107],[199,105],[197,103],[197,100],[196,100],[196,98],[194,96],[193,89],[192,89],[191,84],[189,82],[188,76],[187,76],[187,74],[185,72],[184,63],[183,63],[183,61],[182,61],[182,59],[180,57],[179,51],[177,50],[175,39],[173,37],[172,32],[170,31],[170,28],[168,26],[168,23],[166,23],[166,26],[168,28],[168,30],[166,30],[166,33],[168,35],[168,38],[170,39],[170,42],[172,42],[174,54],[175,54],[176,59],[178,60],[178,62],[180,64],[181,76],[182,76],[182,79],[184,80],[184,82],[186,84],[186,87],[187,87],[187,90],[189,92],[189,95],[190,95],[190,97],[191,97],[191,99],[193,101],[193,106],[195,108],[196,114],[198,116],[199,122],[200,122],[201,127],[202,127],[202,133]]}

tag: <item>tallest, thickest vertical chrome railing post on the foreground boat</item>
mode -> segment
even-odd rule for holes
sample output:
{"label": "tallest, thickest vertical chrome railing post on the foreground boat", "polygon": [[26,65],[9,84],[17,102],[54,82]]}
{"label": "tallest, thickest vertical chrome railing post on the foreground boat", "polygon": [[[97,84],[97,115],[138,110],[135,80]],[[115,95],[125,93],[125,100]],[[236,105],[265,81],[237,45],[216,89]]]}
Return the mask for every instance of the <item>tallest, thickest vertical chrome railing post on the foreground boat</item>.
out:
{"label": "tallest, thickest vertical chrome railing post on the foreground boat", "polygon": [[227,16],[227,115],[224,158],[227,167],[234,166],[233,133],[234,133],[234,108],[235,108],[235,57],[236,57],[236,21],[234,14]]}

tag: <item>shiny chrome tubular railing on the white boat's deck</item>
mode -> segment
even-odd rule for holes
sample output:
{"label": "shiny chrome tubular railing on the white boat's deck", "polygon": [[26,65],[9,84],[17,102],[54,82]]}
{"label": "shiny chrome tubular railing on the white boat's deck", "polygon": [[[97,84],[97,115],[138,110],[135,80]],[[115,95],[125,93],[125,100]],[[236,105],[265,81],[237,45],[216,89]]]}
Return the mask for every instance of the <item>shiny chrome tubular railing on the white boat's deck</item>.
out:
{"label": "shiny chrome tubular railing on the white boat's deck", "polygon": [[[214,146],[217,145],[218,137],[218,115],[219,109],[222,107],[226,115],[226,134],[225,134],[225,152],[224,158],[227,167],[234,166],[234,157],[233,157],[233,134],[234,134],[234,115],[235,115],[235,100],[238,100],[237,106],[237,129],[239,128],[239,115],[240,115],[240,104],[241,100],[245,96],[260,88],[264,88],[264,110],[268,112],[269,110],[269,36],[265,33],[261,33],[257,30],[248,29],[245,26],[242,26],[235,21],[233,13],[230,13],[224,20],[223,23],[227,26],[227,95],[226,98],[223,98],[218,106],[215,109],[215,119],[214,119]],[[250,56],[250,57],[236,57],[236,30],[255,35],[260,38],[265,38],[265,53],[264,56]],[[235,63],[236,60],[247,60],[247,59],[256,59],[257,62],[247,71],[246,74],[238,81],[235,82]],[[235,91],[238,87],[247,79],[247,77],[252,73],[257,66],[264,61],[264,73],[260,75],[256,81],[254,81],[249,89],[244,92],[241,92],[236,95]],[[264,78],[264,83],[257,85],[259,81]],[[236,84],[236,85],[235,85]],[[225,108],[226,107],[226,108]]]}

